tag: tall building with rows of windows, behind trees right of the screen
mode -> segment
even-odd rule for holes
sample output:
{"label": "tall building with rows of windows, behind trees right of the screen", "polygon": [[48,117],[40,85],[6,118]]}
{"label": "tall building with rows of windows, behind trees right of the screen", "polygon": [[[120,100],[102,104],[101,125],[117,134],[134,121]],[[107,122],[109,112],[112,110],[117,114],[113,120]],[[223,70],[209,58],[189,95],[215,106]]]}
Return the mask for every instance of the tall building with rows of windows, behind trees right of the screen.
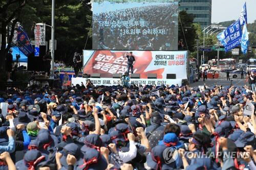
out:
{"label": "tall building with rows of windows, behind trees right of the screen", "polygon": [[211,0],[179,0],[179,10],[194,14],[202,29],[211,25]]}

